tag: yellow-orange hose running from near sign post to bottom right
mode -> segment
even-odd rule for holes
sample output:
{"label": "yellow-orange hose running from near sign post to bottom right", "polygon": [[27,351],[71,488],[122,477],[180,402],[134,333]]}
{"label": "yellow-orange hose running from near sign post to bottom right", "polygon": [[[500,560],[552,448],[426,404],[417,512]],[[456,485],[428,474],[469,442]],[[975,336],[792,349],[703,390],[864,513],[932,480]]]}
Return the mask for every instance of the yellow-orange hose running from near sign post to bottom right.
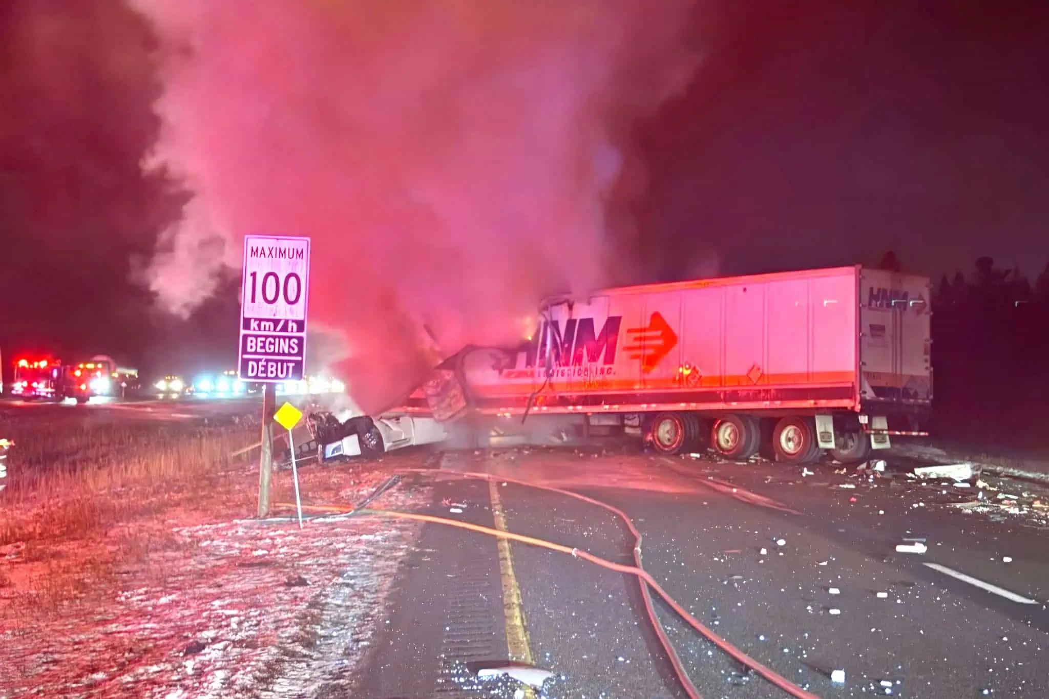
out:
{"label": "yellow-orange hose running from near sign post to bottom right", "polygon": [[[506,480],[506,479],[502,479]],[[585,497],[585,496],[581,496]],[[713,631],[708,629],[706,626],[701,624],[699,619],[689,614],[681,605],[673,600],[673,598],[666,593],[666,591],[660,587],[656,578],[652,577],[648,571],[643,568],[638,568],[636,566],[624,566],[620,563],[614,563],[612,561],[606,561],[602,558],[596,556],[590,551],[584,551],[578,548],[572,548],[564,546],[563,544],[555,544],[553,542],[544,541],[542,539],[536,539],[535,537],[527,537],[524,534],[514,533],[512,531],[500,531],[499,529],[492,529],[491,527],[481,526],[479,524],[471,524],[470,522],[459,522],[457,520],[449,520],[444,517],[434,517],[432,515],[416,515],[414,512],[399,512],[391,509],[360,509],[357,510],[358,515],[380,515],[382,517],[392,517],[394,519],[405,519],[405,520],[415,520],[418,522],[430,522],[432,524],[445,524],[452,527],[458,527],[461,529],[469,529],[470,531],[477,531],[479,533],[486,533],[490,537],[497,537],[500,539],[509,539],[511,541],[517,541],[522,544],[530,544],[532,546],[538,546],[539,548],[550,549],[551,551],[558,551],[559,553],[568,553],[573,558],[583,559],[584,561],[590,561],[593,564],[606,568],[608,570],[615,570],[620,573],[629,573],[630,575],[637,575],[641,580],[656,590],[656,592],[663,598],[667,605],[670,606],[673,611],[678,613],[681,618],[699,631],[707,640],[723,650],[725,653],[730,655],[732,658],[737,660],[744,665],[752,669],[758,675],[767,679],[772,684],[776,685],[787,694],[797,697],[798,699],[817,699],[816,695],[806,692],[798,685],[794,684],[786,677],[783,677],[774,670],[766,668],[757,660],[754,660],[749,655],[732,646],[730,642],[715,634]]]}

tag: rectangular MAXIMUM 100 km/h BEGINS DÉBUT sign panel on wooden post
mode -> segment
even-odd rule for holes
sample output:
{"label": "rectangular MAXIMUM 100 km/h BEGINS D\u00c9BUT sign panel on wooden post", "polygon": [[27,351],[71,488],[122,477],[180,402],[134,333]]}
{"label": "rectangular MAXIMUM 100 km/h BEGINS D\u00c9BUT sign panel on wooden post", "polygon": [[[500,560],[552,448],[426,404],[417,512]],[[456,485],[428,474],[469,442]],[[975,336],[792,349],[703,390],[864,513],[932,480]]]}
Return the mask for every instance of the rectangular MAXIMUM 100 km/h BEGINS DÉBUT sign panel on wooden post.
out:
{"label": "rectangular MAXIMUM 100 km/h BEGINS D\u00c9BUT sign panel on wooden post", "polygon": [[308,289],[308,238],[244,236],[237,364],[241,380],[302,379]]}

